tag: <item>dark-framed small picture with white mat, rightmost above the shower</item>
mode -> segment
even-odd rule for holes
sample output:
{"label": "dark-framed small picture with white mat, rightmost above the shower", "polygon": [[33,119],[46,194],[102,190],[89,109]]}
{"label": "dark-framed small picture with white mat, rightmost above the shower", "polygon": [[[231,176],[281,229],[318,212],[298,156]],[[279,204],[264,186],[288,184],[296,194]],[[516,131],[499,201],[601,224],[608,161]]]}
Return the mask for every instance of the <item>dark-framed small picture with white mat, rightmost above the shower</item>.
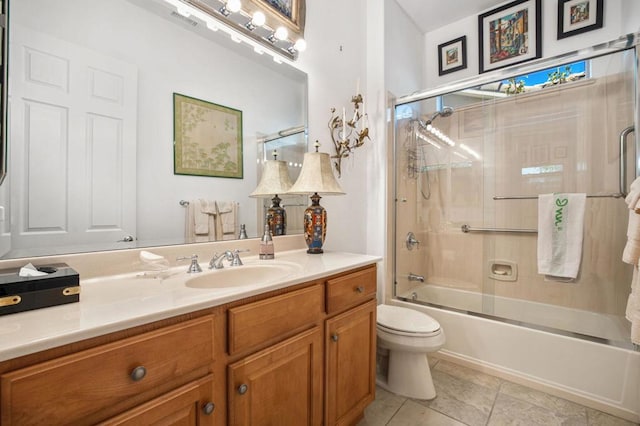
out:
{"label": "dark-framed small picture with white mat, rightmost above the shower", "polygon": [[602,28],[604,0],[558,0],[558,40]]}

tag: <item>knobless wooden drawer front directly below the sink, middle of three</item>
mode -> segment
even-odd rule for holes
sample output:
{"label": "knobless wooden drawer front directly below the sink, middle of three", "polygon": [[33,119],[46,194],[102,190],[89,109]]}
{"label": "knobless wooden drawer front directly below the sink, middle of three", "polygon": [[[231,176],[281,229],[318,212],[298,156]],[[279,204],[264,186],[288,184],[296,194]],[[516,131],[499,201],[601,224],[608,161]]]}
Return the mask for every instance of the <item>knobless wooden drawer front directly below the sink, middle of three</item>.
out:
{"label": "knobless wooden drawer front directly below the sink, middle of three", "polygon": [[324,311],[321,285],[229,309],[229,354],[255,349],[311,325]]}

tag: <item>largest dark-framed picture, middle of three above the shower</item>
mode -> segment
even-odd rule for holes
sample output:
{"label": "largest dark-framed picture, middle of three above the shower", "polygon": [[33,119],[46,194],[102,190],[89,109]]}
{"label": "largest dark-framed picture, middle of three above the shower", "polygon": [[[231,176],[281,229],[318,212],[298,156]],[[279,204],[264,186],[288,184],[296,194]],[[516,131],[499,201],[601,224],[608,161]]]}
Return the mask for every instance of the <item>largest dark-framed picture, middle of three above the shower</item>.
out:
{"label": "largest dark-framed picture, middle of three above the shower", "polygon": [[478,15],[480,72],[542,56],[541,0],[516,0]]}

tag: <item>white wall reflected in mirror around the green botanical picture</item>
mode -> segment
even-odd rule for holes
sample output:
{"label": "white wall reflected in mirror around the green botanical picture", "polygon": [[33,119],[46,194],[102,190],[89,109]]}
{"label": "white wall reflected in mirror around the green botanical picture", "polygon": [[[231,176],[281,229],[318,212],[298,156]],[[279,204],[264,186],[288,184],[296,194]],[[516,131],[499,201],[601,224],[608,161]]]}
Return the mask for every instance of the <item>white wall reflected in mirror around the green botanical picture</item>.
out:
{"label": "white wall reflected in mirror around the green botanical picture", "polygon": [[[248,197],[257,184],[256,133],[304,123],[303,76],[292,79],[285,65],[264,66],[246,46],[228,41],[237,49],[230,50],[125,0],[13,2],[12,19],[138,68],[139,240],[179,241],[185,210],[178,201],[193,198],[240,202],[240,223],[258,235],[257,201]],[[173,174],[174,92],[243,112],[243,179]]]}

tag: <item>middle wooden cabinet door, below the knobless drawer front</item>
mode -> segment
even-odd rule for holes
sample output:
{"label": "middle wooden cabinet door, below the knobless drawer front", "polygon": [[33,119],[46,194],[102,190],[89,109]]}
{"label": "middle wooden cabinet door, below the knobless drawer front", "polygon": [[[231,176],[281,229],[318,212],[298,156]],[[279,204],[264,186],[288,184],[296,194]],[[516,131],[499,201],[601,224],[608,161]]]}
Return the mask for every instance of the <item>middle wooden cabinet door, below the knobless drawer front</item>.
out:
{"label": "middle wooden cabinet door, below the knobless drawer front", "polygon": [[302,332],[228,367],[230,425],[322,423],[322,331]]}

